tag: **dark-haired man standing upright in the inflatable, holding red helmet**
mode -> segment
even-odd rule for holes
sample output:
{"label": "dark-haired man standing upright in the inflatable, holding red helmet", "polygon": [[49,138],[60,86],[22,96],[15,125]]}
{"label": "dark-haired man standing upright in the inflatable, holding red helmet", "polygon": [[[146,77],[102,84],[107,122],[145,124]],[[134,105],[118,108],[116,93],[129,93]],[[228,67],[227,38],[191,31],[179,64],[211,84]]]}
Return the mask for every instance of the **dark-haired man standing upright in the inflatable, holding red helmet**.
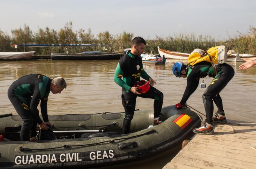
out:
{"label": "dark-haired man standing upright in the inflatable, holding red helmet", "polygon": [[[152,87],[156,82],[143,69],[142,57],[140,55],[143,53],[145,45],[146,42],[143,38],[134,38],[131,42],[131,52],[125,54],[119,60],[114,75],[114,81],[122,87],[122,104],[125,109],[123,120],[124,134],[130,133],[137,96],[154,99],[154,124],[162,123],[159,118],[162,115],[163,93]],[[149,83],[151,83],[149,90],[144,94],[140,94],[137,91],[137,87],[133,87],[136,81],[140,81],[140,77],[149,80]]]}

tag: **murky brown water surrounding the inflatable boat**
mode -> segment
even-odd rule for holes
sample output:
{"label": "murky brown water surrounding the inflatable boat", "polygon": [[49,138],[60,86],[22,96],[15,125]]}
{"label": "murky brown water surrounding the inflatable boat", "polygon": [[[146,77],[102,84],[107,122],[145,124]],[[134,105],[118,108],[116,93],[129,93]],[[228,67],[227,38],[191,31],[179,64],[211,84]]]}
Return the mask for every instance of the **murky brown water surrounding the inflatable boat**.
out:
{"label": "murky brown water surrounding the inflatable boat", "polygon": [[[16,114],[8,99],[7,91],[13,81],[26,74],[43,74],[50,78],[62,76],[67,81],[67,89],[61,94],[50,93],[48,114],[92,114],[99,112],[123,112],[120,100],[121,88],[113,81],[118,60],[107,61],[0,61],[0,115]],[[143,63],[146,72],[157,82],[155,88],[164,94],[163,107],[180,102],[186,88],[186,79],[176,78],[171,71],[174,61],[155,66]],[[240,70],[241,62],[228,62],[235,69],[235,76],[220,93],[227,119],[256,121],[256,66]],[[208,84],[212,78],[204,78]],[[202,101],[204,89],[197,89],[187,104],[204,113]],[[136,109],[153,108],[153,100],[137,98]],[[38,107],[40,108],[40,106]],[[215,107],[216,111],[216,107]],[[161,166],[170,157],[158,161]],[[147,164],[151,166],[151,164]],[[144,168],[143,165],[139,168]]]}

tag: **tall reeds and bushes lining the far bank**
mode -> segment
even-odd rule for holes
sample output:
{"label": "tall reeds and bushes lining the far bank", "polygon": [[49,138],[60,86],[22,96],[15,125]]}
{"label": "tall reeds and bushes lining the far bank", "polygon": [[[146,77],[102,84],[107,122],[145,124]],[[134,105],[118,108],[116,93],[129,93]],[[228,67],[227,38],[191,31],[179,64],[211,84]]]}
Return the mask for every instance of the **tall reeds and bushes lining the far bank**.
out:
{"label": "tall reeds and bushes lining the far bank", "polygon": [[[37,55],[49,55],[50,53],[81,53],[82,51],[122,51],[131,47],[131,40],[135,37],[131,32],[122,32],[117,35],[111,35],[110,32],[101,32],[94,36],[91,29],[85,31],[80,29],[74,31],[72,22],[59,31],[54,29],[39,28],[36,32],[30,30],[29,26],[12,30],[12,36],[0,31],[0,51],[37,51]],[[155,39],[145,39],[147,45],[145,52],[157,54],[157,46],[182,52],[191,53],[195,48],[206,50],[208,47],[217,45],[226,45],[228,50],[235,50],[236,53],[249,53],[256,55],[256,29],[250,26],[246,34],[239,33],[236,37],[228,39],[215,39],[209,35],[196,36],[194,33],[177,33],[173,36],[160,37]],[[12,44],[108,44],[109,47],[46,47],[32,48],[19,47],[15,49]]]}

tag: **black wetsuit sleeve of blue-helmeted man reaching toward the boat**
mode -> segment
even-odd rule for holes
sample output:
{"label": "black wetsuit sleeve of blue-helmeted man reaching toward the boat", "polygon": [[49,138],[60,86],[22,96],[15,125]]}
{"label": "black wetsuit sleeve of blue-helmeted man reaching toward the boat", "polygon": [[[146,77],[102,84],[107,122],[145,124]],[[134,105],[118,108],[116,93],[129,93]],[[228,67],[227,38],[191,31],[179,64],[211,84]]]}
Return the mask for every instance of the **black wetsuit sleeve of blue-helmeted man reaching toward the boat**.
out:
{"label": "black wetsuit sleeve of blue-helmeted man reaching toward the boat", "polygon": [[184,91],[180,104],[184,105],[186,101],[189,99],[190,95],[192,95],[195,92],[199,84],[199,80],[199,77],[197,78],[191,74],[189,75],[189,77],[187,77],[187,87]]}

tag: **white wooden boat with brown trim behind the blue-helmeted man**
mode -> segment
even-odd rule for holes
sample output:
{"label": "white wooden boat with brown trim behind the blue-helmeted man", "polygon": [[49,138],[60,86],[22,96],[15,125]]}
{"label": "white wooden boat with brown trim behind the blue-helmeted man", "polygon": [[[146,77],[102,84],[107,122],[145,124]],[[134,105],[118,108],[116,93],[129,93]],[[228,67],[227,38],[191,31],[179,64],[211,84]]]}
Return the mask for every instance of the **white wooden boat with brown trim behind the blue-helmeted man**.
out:
{"label": "white wooden boat with brown trim behind the blue-helmeted man", "polygon": [[[187,60],[190,53],[180,53],[171,50],[161,49],[159,46],[157,47],[158,53],[161,57],[165,56],[166,59],[177,59],[177,60]],[[236,55],[228,55],[227,62],[236,62],[239,58]]]}

